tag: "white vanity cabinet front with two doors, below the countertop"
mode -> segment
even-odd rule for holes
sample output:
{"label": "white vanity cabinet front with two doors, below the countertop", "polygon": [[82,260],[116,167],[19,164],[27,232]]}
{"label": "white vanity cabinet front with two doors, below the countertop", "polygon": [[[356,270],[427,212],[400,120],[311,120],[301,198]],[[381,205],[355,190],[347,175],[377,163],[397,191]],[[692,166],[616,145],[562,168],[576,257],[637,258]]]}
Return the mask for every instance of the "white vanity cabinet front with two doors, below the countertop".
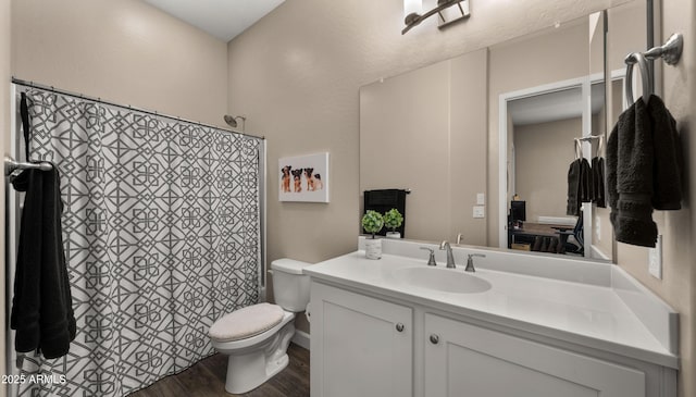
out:
{"label": "white vanity cabinet front with two doors, below the countertop", "polygon": [[[673,397],[671,369],[311,283],[312,397]],[[488,327],[489,326],[489,327]]]}

